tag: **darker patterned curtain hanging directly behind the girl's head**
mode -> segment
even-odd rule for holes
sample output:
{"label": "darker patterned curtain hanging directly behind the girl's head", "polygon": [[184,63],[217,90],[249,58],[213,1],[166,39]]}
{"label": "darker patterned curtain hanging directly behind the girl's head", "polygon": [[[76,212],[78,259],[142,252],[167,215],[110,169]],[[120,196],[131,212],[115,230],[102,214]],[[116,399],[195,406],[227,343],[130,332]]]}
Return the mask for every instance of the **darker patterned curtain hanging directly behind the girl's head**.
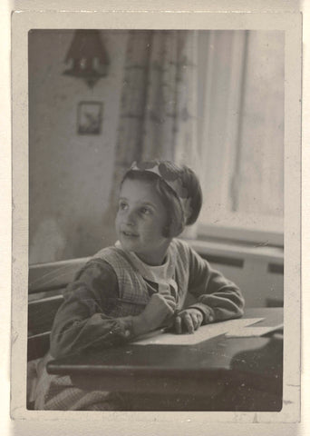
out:
{"label": "darker patterned curtain hanging directly behind the girl's head", "polygon": [[132,161],[163,158],[198,169],[196,57],[195,31],[129,32],[105,239],[114,237],[121,177]]}

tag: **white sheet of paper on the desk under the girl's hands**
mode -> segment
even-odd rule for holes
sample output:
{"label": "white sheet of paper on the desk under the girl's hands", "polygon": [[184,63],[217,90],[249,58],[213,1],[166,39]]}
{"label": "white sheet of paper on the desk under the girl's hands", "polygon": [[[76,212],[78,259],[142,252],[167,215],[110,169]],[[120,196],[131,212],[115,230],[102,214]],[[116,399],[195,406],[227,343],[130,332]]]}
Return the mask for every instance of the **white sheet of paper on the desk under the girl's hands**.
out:
{"label": "white sheet of paper on the desk under the girl's hands", "polygon": [[239,331],[247,325],[253,325],[264,318],[248,318],[239,320],[229,320],[224,322],[215,322],[214,324],[203,325],[194,334],[174,334],[164,333],[153,336],[148,339],[132,342],[137,345],[194,345],[199,342],[215,338],[220,334],[227,332]]}

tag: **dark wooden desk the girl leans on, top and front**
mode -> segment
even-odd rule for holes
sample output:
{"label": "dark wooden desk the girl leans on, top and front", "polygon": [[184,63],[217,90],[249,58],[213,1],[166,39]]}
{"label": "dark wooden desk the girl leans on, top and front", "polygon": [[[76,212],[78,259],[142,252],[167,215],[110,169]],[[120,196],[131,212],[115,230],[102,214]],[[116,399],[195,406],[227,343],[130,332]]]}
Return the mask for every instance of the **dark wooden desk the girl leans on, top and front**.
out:
{"label": "dark wooden desk the girl leans on, top and front", "polygon": [[[283,309],[247,309],[245,317],[273,326],[283,322]],[[69,374],[83,389],[133,394],[134,410],[280,411],[282,362],[283,341],[274,335],[220,335],[191,346],[129,343],[49,362],[47,371]]]}

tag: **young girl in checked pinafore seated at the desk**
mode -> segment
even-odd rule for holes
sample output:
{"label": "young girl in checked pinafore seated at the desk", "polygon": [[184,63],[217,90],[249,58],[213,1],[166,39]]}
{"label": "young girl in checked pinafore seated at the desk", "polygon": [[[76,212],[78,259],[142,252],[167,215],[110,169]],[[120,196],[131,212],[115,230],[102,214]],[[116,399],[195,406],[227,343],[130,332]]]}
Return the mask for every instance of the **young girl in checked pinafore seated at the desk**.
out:
{"label": "young girl in checked pinafore seated at the desk", "polygon": [[[83,391],[70,378],[47,374],[46,362],[86,349],[129,342],[169,325],[193,333],[201,324],[237,318],[237,286],[175,239],[195,223],[202,194],[187,166],[133,163],[121,182],[118,242],[95,254],[64,293],[55,316],[50,354],[39,365],[35,409],[125,410],[118,395]],[[196,302],[184,307],[188,292]]]}

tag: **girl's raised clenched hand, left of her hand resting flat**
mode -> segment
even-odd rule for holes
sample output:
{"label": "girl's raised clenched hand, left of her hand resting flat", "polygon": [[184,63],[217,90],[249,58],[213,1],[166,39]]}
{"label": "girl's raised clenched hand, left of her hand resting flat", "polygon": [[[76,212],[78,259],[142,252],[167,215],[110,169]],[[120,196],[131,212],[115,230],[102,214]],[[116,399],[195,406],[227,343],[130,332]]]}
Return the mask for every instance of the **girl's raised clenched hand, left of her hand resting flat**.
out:
{"label": "girl's raised clenched hand, left of her hand resting flat", "polygon": [[133,318],[133,332],[138,335],[159,328],[175,308],[176,301],[169,292],[153,293],[144,311]]}

